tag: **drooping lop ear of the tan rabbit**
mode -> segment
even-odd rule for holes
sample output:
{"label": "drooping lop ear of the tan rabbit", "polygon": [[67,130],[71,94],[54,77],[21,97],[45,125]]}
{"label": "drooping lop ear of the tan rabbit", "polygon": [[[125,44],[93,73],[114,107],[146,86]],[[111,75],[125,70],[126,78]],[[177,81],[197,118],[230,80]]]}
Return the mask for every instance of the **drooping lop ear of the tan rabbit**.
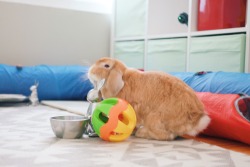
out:
{"label": "drooping lop ear of the tan rabbit", "polygon": [[105,84],[110,94],[116,96],[124,86],[124,81],[122,80],[122,73],[117,70],[111,70],[109,73],[108,80]]}

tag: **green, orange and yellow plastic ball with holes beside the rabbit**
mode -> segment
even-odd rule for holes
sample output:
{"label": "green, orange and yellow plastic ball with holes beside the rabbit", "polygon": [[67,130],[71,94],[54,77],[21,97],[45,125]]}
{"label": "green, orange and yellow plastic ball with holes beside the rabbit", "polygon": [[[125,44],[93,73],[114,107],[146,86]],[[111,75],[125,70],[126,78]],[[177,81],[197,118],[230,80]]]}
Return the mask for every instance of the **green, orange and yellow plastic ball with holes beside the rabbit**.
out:
{"label": "green, orange and yellow plastic ball with holes beside the rabbit", "polygon": [[119,98],[108,98],[100,102],[92,115],[95,133],[106,141],[123,141],[133,132],[136,115],[132,106]]}

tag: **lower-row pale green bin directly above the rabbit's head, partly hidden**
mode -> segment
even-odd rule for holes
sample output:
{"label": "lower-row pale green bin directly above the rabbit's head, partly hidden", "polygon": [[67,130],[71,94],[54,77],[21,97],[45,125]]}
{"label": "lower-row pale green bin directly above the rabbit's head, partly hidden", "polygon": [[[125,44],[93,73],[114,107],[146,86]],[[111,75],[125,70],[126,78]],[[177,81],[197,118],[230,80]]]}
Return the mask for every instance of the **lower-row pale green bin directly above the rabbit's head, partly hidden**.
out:
{"label": "lower-row pale green bin directly above the rabbit's head, partly hidden", "polygon": [[128,67],[144,69],[144,41],[116,42],[114,57]]}

